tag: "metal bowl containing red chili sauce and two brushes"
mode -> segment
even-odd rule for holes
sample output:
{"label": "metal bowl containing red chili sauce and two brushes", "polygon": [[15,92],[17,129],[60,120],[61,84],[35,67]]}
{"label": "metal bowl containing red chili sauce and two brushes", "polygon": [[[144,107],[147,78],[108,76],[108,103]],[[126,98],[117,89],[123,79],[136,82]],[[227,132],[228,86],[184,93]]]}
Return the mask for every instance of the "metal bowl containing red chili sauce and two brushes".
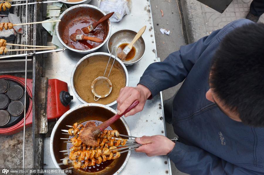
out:
{"label": "metal bowl containing red chili sauce and two brushes", "polygon": [[69,47],[67,44],[65,44],[62,41],[61,35],[63,34],[63,31],[65,30],[65,26],[67,26],[72,20],[74,20],[76,18],[85,17],[85,16],[92,16],[92,18],[94,18],[96,21],[99,21],[105,15],[106,14],[104,13],[104,11],[100,10],[96,6],[92,6],[89,4],[79,4],[79,5],[70,7],[69,9],[65,10],[60,15],[60,17],[58,18],[58,20],[61,20],[61,21],[56,23],[56,33],[57,33],[57,36],[58,36],[60,42],[62,43],[62,45],[64,47],[70,49],[71,51],[75,51],[78,53],[86,53],[87,54],[87,53],[92,53],[92,52],[96,51],[101,46],[103,46],[110,37],[111,23],[109,20],[104,21],[102,23],[105,28],[106,27],[108,28],[108,34],[107,34],[104,42],[102,42],[99,46],[92,48],[92,49],[89,49],[89,50],[77,50],[77,49]]}

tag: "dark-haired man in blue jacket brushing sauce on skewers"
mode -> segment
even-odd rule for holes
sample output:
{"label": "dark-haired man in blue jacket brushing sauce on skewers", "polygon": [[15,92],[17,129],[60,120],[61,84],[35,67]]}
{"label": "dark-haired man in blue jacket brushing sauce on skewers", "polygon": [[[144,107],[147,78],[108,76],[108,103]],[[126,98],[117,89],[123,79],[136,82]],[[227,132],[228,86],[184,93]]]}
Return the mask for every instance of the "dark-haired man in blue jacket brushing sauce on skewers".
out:
{"label": "dark-haired man in blue jacket brushing sauce on skewers", "polygon": [[181,142],[143,136],[136,138],[144,144],[136,151],[168,155],[188,174],[264,174],[263,31],[264,24],[233,21],[151,64],[137,87],[121,89],[119,114],[140,101],[127,117],[184,80],[165,106],[165,119]]}

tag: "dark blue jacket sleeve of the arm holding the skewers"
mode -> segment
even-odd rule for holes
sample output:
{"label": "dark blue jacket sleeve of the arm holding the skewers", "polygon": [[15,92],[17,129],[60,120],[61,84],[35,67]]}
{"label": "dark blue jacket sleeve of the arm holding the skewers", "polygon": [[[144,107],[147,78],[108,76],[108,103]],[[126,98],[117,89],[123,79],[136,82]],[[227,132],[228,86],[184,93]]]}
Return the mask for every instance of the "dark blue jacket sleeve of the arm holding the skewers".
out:
{"label": "dark blue jacket sleeve of the arm holding the skewers", "polygon": [[263,172],[251,171],[231,164],[215,155],[193,146],[176,142],[175,147],[168,154],[178,170],[188,174],[207,175],[248,175]]}

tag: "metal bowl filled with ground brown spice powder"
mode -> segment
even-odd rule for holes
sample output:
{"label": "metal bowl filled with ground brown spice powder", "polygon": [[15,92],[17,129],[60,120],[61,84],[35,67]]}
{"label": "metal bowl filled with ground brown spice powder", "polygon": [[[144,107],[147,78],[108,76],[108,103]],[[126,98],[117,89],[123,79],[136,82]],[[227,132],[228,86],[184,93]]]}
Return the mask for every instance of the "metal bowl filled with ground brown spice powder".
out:
{"label": "metal bowl filled with ground brown spice powder", "polygon": [[[106,65],[110,54],[104,52],[90,53],[84,56],[75,65],[71,75],[71,86],[75,96],[82,103],[99,103],[102,105],[112,106],[116,104],[116,99],[119,96],[121,88],[128,86],[128,72],[126,66],[121,60],[116,59],[109,75],[109,80],[112,84],[111,93],[98,101],[94,100],[91,85],[94,79],[104,75]],[[114,55],[111,56],[105,76],[107,77],[111,65],[114,60]]]}

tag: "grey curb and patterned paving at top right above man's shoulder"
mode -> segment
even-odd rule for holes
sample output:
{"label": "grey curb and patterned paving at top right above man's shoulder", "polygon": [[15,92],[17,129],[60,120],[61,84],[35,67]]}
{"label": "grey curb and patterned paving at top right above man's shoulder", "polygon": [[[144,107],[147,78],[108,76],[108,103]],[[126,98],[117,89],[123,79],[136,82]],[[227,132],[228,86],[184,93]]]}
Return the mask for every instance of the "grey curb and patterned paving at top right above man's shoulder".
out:
{"label": "grey curb and patterned paving at top right above man's shoulder", "polygon": [[[181,0],[189,43],[223,28],[226,24],[240,18],[246,18],[252,0],[233,0],[224,13],[196,1]],[[264,14],[258,23],[264,23]]]}

